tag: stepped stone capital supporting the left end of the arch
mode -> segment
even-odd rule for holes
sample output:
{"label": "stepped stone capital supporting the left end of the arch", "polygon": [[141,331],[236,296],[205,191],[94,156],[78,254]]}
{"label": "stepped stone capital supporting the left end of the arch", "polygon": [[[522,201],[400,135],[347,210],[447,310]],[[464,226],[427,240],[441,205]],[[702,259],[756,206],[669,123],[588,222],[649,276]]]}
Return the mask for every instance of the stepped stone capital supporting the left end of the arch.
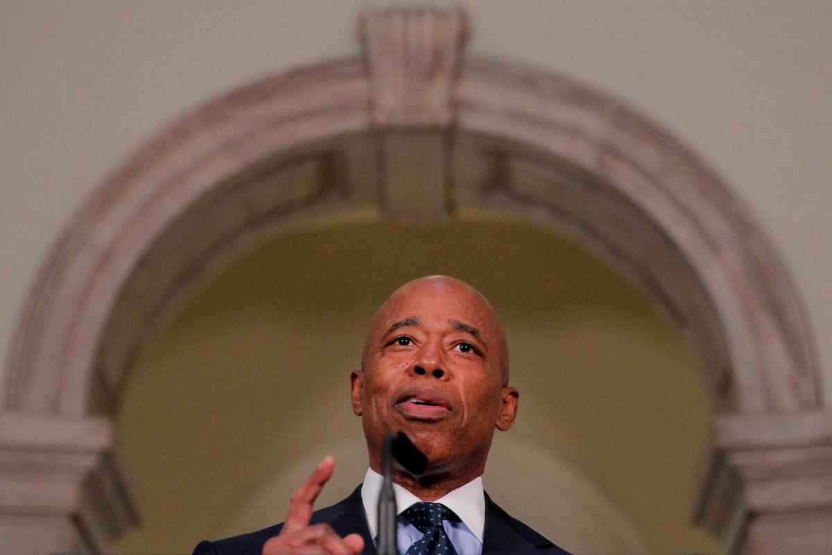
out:
{"label": "stepped stone capital supporting the left end of the arch", "polygon": [[0,515],[17,521],[4,549],[101,549],[134,528],[135,499],[112,447],[109,419],[0,414]]}

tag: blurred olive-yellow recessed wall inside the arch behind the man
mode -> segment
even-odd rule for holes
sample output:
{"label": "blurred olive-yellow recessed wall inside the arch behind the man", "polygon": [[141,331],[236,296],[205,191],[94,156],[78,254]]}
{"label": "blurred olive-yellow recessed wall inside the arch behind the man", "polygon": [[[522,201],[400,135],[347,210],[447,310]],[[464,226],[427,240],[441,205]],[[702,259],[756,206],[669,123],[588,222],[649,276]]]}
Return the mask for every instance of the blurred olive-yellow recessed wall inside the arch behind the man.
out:
{"label": "blurred olive-yellow recessed wall inside the arch behind the man", "polygon": [[688,523],[710,414],[686,345],[606,265],[493,221],[290,232],[218,275],[134,370],[119,432],[146,523],[113,549],[264,528],[327,453],[321,506],[349,494],[367,464],[347,394],[367,323],[436,272],[488,295],[509,335],[522,418],[489,458],[498,503],[577,553],[716,550]]}

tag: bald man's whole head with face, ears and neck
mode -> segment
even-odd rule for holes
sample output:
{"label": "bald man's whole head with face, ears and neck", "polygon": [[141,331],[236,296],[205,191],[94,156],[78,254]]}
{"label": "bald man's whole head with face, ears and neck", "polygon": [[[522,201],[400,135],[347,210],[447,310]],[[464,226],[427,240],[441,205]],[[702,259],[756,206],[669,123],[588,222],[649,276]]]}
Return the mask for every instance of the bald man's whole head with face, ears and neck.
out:
{"label": "bald man's whole head with face, ears and neck", "polygon": [[461,281],[422,278],[391,295],[352,375],[371,466],[379,469],[384,433],[401,430],[428,456],[428,472],[482,473],[494,428],[510,428],[517,410],[504,349],[497,315]]}

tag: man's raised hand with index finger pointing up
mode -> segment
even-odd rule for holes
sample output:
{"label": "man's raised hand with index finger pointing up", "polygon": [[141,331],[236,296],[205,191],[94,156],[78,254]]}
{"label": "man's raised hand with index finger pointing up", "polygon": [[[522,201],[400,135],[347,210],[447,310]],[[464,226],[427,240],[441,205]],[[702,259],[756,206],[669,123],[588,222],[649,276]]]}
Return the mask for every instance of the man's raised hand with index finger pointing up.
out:
{"label": "man's raised hand with index finger pointing up", "polygon": [[332,478],[335,459],[324,457],[312,475],[292,494],[289,514],[280,535],[263,545],[263,555],[360,555],[364,539],[359,534],[341,538],[329,524],[312,524],[314,501]]}

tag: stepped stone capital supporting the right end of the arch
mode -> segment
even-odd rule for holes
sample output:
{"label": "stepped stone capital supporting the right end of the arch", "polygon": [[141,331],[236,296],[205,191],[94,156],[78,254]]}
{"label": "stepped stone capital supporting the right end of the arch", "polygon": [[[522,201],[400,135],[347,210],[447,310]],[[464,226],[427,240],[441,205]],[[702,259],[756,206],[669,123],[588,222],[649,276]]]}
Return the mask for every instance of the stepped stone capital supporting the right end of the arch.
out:
{"label": "stepped stone capital supporting the right end of the arch", "polygon": [[829,549],[832,412],[723,415],[714,444],[696,519],[725,538],[730,553]]}

